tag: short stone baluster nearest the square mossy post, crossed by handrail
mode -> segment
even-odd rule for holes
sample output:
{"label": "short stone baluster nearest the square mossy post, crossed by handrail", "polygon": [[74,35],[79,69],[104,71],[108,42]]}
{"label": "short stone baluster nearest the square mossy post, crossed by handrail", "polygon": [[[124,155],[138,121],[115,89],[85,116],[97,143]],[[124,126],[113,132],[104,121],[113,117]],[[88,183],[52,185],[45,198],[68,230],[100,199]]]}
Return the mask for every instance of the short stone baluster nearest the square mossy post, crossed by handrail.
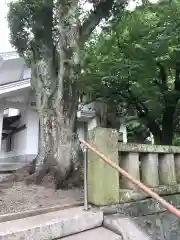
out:
{"label": "short stone baluster nearest the square mossy post, crossed by handrail", "polygon": [[[140,169],[139,169],[139,153],[124,153],[120,154],[120,167],[128,172],[132,177],[139,180],[140,179]],[[136,189],[137,187],[122,176],[120,181],[121,189]]]}

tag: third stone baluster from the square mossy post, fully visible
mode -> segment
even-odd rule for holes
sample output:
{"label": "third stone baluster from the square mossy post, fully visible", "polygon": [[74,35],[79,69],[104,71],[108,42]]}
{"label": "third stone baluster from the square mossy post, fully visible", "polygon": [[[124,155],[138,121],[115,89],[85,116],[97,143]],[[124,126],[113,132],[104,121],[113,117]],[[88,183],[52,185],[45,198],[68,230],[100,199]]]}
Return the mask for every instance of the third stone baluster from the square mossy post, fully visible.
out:
{"label": "third stone baluster from the square mossy post, fully visible", "polygon": [[166,153],[159,156],[159,180],[160,184],[176,184],[174,154]]}

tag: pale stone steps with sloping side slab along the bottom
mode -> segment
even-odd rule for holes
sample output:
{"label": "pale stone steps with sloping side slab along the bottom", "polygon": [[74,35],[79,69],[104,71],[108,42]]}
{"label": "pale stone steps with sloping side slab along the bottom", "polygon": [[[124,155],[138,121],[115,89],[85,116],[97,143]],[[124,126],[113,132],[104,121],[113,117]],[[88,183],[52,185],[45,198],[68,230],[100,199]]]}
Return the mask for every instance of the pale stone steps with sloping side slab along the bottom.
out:
{"label": "pale stone steps with sloping side slab along the bottom", "polygon": [[[159,215],[130,217],[123,214],[104,215],[100,209],[72,207],[26,218],[0,222],[1,240],[179,240],[179,220],[164,212],[161,220],[167,233],[153,224]],[[8,218],[9,219],[9,218]],[[172,224],[173,223],[173,224]],[[150,224],[152,226],[150,226]],[[168,224],[168,225],[167,225]],[[177,226],[175,226],[176,224]],[[173,232],[168,228],[173,227]],[[175,228],[176,227],[176,228]],[[159,232],[159,233],[158,233]],[[167,235],[169,234],[170,235]],[[176,238],[172,238],[176,234]],[[166,236],[166,238],[164,238]],[[174,235],[173,235],[174,236]]]}

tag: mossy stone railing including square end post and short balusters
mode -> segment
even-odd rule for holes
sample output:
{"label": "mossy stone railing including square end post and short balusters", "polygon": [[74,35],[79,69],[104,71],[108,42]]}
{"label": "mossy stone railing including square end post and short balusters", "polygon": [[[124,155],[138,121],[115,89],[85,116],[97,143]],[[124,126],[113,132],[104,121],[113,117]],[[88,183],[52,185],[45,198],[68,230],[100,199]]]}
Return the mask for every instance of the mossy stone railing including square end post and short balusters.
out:
{"label": "mossy stone railing including square end post and short balusters", "polygon": [[[159,195],[180,193],[180,147],[118,143],[113,129],[95,128],[89,143]],[[88,151],[88,199],[109,205],[149,197]]]}

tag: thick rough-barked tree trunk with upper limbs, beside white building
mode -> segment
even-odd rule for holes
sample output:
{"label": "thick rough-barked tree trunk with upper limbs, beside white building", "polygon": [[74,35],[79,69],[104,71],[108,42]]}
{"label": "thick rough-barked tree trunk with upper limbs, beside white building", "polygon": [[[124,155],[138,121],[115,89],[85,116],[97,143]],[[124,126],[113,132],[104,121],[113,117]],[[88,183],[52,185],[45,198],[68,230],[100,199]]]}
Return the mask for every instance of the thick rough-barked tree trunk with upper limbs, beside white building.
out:
{"label": "thick rough-barked tree trunk with upper limbs, beside white building", "polygon": [[44,136],[41,145],[44,161],[36,173],[37,183],[52,171],[56,187],[62,187],[82,165],[82,151],[74,132],[79,100],[80,49],[100,20],[110,13],[113,4],[113,0],[100,0],[81,25],[78,0],[58,3],[58,44],[54,44],[57,39],[54,41],[52,21],[49,33],[46,32],[41,60],[36,61],[33,68],[33,86]]}

